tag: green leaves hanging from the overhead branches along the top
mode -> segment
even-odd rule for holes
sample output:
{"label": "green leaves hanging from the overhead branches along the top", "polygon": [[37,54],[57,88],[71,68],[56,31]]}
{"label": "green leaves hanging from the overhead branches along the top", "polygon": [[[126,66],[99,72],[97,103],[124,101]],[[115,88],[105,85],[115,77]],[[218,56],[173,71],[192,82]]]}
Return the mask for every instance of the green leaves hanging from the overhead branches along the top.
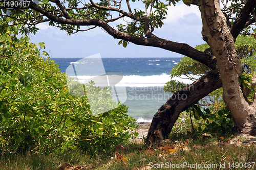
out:
{"label": "green leaves hanging from the overhead branches along the top", "polygon": [[[23,6],[15,8],[4,5],[2,1],[0,2],[0,6],[2,7],[0,16],[9,17],[10,15],[7,12],[9,11],[13,19],[11,25],[21,25],[19,26],[22,28],[21,32],[25,34],[35,34],[38,31],[35,26],[42,22],[48,22],[50,26],[58,27],[60,30],[67,31],[68,35],[71,35],[78,31],[94,29],[97,26],[106,29],[105,26],[100,24],[101,21],[104,21],[110,26],[109,23],[122,19],[124,22],[118,24],[115,31],[137,37],[146,37],[146,31],[144,30],[145,19],[149,21],[149,24],[146,24],[148,30],[154,32],[155,29],[163,26],[163,20],[166,19],[167,15],[167,7],[171,5],[175,6],[178,2],[180,0],[166,0],[165,2],[132,0],[132,2],[127,1],[126,4],[121,5],[121,2],[115,0],[100,0],[97,2],[68,0],[58,3],[39,0],[34,4],[25,3]],[[192,1],[186,2],[189,2],[190,5]],[[244,3],[236,0],[222,3],[224,5],[222,11],[228,17],[229,23],[232,26],[234,20],[237,19],[241,9],[244,7]],[[193,2],[192,4],[198,5],[197,2]],[[46,19],[46,17],[49,19]],[[73,19],[76,22],[66,21],[66,19]],[[98,19],[98,22],[91,22],[90,19]],[[83,22],[84,20],[88,20],[89,22]],[[28,23],[29,25],[26,26]],[[84,28],[83,26],[89,26],[89,28]],[[250,25],[243,30],[243,34],[252,34],[253,32],[255,32],[255,29],[250,27]]]}

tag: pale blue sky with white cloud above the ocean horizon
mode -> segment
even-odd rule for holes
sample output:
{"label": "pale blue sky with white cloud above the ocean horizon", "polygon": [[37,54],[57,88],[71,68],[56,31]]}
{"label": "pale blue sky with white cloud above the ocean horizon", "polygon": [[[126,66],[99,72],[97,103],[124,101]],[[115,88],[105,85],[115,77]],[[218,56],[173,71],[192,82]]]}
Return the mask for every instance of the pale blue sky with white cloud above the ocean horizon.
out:
{"label": "pale blue sky with white cloud above the ocean horizon", "polygon": [[[163,27],[155,29],[153,34],[193,47],[205,43],[202,39],[202,21],[197,6],[187,7],[181,1],[175,7],[168,7],[167,13]],[[112,23],[112,27],[120,22]],[[119,39],[114,39],[101,28],[72,35],[48,26],[48,23],[40,23],[37,28],[40,30],[35,35],[30,35],[31,42],[45,42],[45,50],[50,52],[51,58],[84,58],[98,53],[102,58],[183,57],[158,47],[136,45],[131,42],[124,48],[118,45]]]}

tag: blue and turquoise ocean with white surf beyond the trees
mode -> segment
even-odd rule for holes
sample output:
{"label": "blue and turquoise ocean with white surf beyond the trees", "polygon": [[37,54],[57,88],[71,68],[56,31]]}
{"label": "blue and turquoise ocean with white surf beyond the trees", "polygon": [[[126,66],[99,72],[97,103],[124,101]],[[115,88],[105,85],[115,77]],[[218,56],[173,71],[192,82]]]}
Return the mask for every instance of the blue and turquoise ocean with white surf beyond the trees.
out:
{"label": "blue and turquoise ocean with white surf beyond the trees", "polygon": [[[71,64],[78,64],[82,58],[51,58],[59,64],[61,72]],[[158,109],[172,96],[162,87],[170,81],[170,71],[180,58],[102,58],[105,72],[123,75],[117,86],[126,87],[128,113],[137,122],[151,122]],[[77,70],[79,75],[79,70]],[[174,78],[181,80],[179,78]],[[183,83],[191,84],[187,79]]]}

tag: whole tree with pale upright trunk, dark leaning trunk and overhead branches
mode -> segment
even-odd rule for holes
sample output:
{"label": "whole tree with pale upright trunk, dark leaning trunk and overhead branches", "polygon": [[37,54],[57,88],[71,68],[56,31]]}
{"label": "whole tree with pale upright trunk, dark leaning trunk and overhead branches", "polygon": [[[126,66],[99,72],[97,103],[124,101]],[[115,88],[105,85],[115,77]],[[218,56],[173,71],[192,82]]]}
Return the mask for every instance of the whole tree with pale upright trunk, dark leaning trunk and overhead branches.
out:
{"label": "whole tree with pale upright trunk, dark leaning trunk and overhead branches", "polygon": [[[210,70],[196,82],[174,93],[174,96],[186,95],[186,100],[170,98],[158,109],[148,130],[147,143],[168,137],[182,111],[220,87],[223,87],[223,99],[234,119],[233,132],[255,135],[256,99],[249,102],[246,100],[246,94],[242,92],[244,87],[239,80],[243,71],[234,41],[241,32],[253,33],[254,30],[250,27],[255,23],[256,2],[221,1],[224,6],[222,9],[219,0],[194,0],[186,3],[199,6],[201,11],[202,36],[210,48],[200,52],[188,44],[162,39],[153,34],[154,29],[163,25],[167,6],[176,5],[178,1],[169,0],[168,4],[158,0],[142,1],[145,10],[132,10],[130,1],[126,0],[127,12],[124,11],[125,8],[121,8],[121,2],[115,0],[100,0],[98,3],[93,0],[89,3],[76,0],[42,0],[39,4],[29,1],[26,7],[9,7],[10,15],[6,15],[7,7],[4,5],[0,9],[3,11],[2,17],[13,19],[5,26],[22,25],[23,33],[35,33],[35,26],[41,22],[49,22],[50,26],[66,30],[68,34],[101,27],[114,38],[121,39],[119,43],[124,47],[127,42],[159,47],[185,55],[209,67]],[[111,22],[125,18],[130,18],[131,21],[126,25],[117,25],[116,28],[110,26]],[[84,29],[83,26],[88,28]],[[250,86],[255,84],[255,77],[252,79]]]}

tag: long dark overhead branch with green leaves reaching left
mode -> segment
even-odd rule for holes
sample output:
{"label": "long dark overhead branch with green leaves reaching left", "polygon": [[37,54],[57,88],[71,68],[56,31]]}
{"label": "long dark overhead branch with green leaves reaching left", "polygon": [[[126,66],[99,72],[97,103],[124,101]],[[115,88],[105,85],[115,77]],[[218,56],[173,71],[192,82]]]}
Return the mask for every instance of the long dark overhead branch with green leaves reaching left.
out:
{"label": "long dark overhead branch with green leaves reaching left", "polygon": [[[216,59],[210,54],[205,54],[189,46],[188,44],[173,42],[162,39],[153,34],[155,29],[163,26],[163,20],[167,15],[167,7],[176,5],[179,0],[161,2],[159,0],[145,0],[130,2],[117,2],[115,0],[90,1],[59,1],[42,0],[38,4],[30,1],[28,7],[5,7],[0,3],[0,16],[11,17],[12,22],[6,22],[4,26],[19,25],[22,33],[36,33],[36,25],[48,22],[50,26],[58,27],[67,31],[69,35],[79,31],[87,31],[96,27],[101,27],[114,38],[121,39],[119,43],[132,42],[138,45],[160,47],[168,51],[176,52],[199,61],[206,66],[215,69]],[[224,3],[224,2],[223,2]],[[250,12],[253,2],[246,5],[249,9],[239,10],[246,5],[242,2],[232,2],[228,7],[224,3],[223,12],[229,19],[231,32],[241,32],[255,22]],[[198,5],[198,1],[193,3]],[[136,9],[143,6],[142,9]],[[7,14],[10,11],[9,15]],[[245,14],[246,19],[241,19],[241,14]],[[255,13],[255,12],[254,12]],[[124,22],[123,22],[124,21]],[[245,22],[245,23],[244,23]],[[232,26],[233,24],[233,26]],[[249,33],[248,30],[244,31]],[[233,35],[234,38],[237,35]]]}

